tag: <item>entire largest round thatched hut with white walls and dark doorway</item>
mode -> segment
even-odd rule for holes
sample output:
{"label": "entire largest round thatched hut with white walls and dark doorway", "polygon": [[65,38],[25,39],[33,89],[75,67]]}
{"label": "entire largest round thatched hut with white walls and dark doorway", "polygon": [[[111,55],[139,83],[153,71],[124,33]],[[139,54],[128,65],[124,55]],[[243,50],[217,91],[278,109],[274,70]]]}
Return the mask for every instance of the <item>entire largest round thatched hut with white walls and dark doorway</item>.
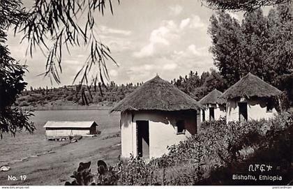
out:
{"label": "entire largest round thatched hut with white walls and dark doorway", "polygon": [[144,83],[110,112],[121,112],[122,157],[157,158],[197,133],[200,103],[160,77]]}

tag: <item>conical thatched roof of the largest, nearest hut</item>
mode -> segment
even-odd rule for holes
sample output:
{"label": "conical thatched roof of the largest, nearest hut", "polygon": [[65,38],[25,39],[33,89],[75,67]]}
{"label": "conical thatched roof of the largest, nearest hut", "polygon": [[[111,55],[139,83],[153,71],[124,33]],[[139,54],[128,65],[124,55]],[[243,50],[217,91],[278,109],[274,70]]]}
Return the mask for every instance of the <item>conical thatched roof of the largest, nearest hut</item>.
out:
{"label": "conical thatched roof of the largest, nearest hut", "polygon": [[200,109],[202,105],[183,93],[176,86],[156,76],[142,84],[110,110],[162,110],[176,111],[183,109]]}

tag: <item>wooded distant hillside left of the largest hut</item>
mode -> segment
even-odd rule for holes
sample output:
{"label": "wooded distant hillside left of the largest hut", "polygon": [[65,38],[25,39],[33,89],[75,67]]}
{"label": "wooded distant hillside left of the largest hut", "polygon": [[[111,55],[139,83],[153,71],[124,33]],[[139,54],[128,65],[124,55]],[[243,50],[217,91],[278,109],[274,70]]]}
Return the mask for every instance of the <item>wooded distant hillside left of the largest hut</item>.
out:
{"label": "wooded distant hillside left of the largest hut", "polygon": [[62,86],[59,88],[48,87],[26,90],[22,92],[15,102],[15,105],[24,109],[75,109],[80,105],[89,105],[82,109],[96,109],[111,107],[114,103],[123,99],[137,86],[132,83],[118,86],[110,82],[107,86]]}

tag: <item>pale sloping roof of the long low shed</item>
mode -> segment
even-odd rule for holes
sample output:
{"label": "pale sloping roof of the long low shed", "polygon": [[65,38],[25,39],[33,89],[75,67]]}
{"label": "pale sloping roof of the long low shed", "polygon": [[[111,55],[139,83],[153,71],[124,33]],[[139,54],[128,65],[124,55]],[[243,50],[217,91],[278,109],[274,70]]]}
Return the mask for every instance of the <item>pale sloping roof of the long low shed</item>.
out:
{"label": "pale sloping roof of the long low shed", "polygon": [[47,121],[44,128],[90,128],[95,121]]}

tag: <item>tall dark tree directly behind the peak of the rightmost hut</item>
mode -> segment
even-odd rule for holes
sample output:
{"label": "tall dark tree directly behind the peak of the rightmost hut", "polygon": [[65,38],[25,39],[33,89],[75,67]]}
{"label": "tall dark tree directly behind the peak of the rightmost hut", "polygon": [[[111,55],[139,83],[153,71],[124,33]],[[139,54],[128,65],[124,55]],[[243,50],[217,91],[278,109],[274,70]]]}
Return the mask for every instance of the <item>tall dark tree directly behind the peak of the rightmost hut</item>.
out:
{"label": "tall dark tree directly behind the peak of the rightmost hut", "polygon": [[[267,19],[261,9],[246,13],[241,23],[241,31],[239,33],[242,36],[240,60],[238,65],[235,65],[239,67],[239,76],[242,77],[250,72],[266,80],[266,82],[271,82],[271,78],[267,73],[268,65],[264,61],[269,47],[269,31]],[[240,78],[236,77],[235,79],[237,81]]]}

